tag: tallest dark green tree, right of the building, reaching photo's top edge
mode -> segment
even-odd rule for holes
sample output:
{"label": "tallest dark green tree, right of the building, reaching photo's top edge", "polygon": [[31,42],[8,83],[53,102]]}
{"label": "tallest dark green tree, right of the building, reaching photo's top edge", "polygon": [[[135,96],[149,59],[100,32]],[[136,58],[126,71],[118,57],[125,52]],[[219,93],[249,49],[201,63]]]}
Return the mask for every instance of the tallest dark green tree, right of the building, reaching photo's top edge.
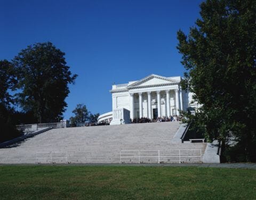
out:
{"label": "tallest dark green tree, right of the building, reaching photo's top edge", "polygon": [[182,87],[202,104],[188,121],[210,141],[234,137],[242,156],[233,159],[255,162],[256,1],[207,0],[200,7],[201,19],[189,35],[178,31],[187,70]]}

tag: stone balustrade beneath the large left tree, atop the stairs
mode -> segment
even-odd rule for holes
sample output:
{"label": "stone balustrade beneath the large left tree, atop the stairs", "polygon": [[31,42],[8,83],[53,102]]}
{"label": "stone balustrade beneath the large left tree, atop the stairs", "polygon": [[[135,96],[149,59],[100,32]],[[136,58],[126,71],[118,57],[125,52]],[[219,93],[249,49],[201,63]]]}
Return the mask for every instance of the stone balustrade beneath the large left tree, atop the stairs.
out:
{"label": "stone balustrade beneath the large left tree, atop the stairs", "polygon": [[23,132],[31,132],[31,131],[36,131],[38,129],[43,129],[43,128],[65,128],[65,123],[56,122],[56,123],[21,124],[21,125],[16,125],[16,128]]}

